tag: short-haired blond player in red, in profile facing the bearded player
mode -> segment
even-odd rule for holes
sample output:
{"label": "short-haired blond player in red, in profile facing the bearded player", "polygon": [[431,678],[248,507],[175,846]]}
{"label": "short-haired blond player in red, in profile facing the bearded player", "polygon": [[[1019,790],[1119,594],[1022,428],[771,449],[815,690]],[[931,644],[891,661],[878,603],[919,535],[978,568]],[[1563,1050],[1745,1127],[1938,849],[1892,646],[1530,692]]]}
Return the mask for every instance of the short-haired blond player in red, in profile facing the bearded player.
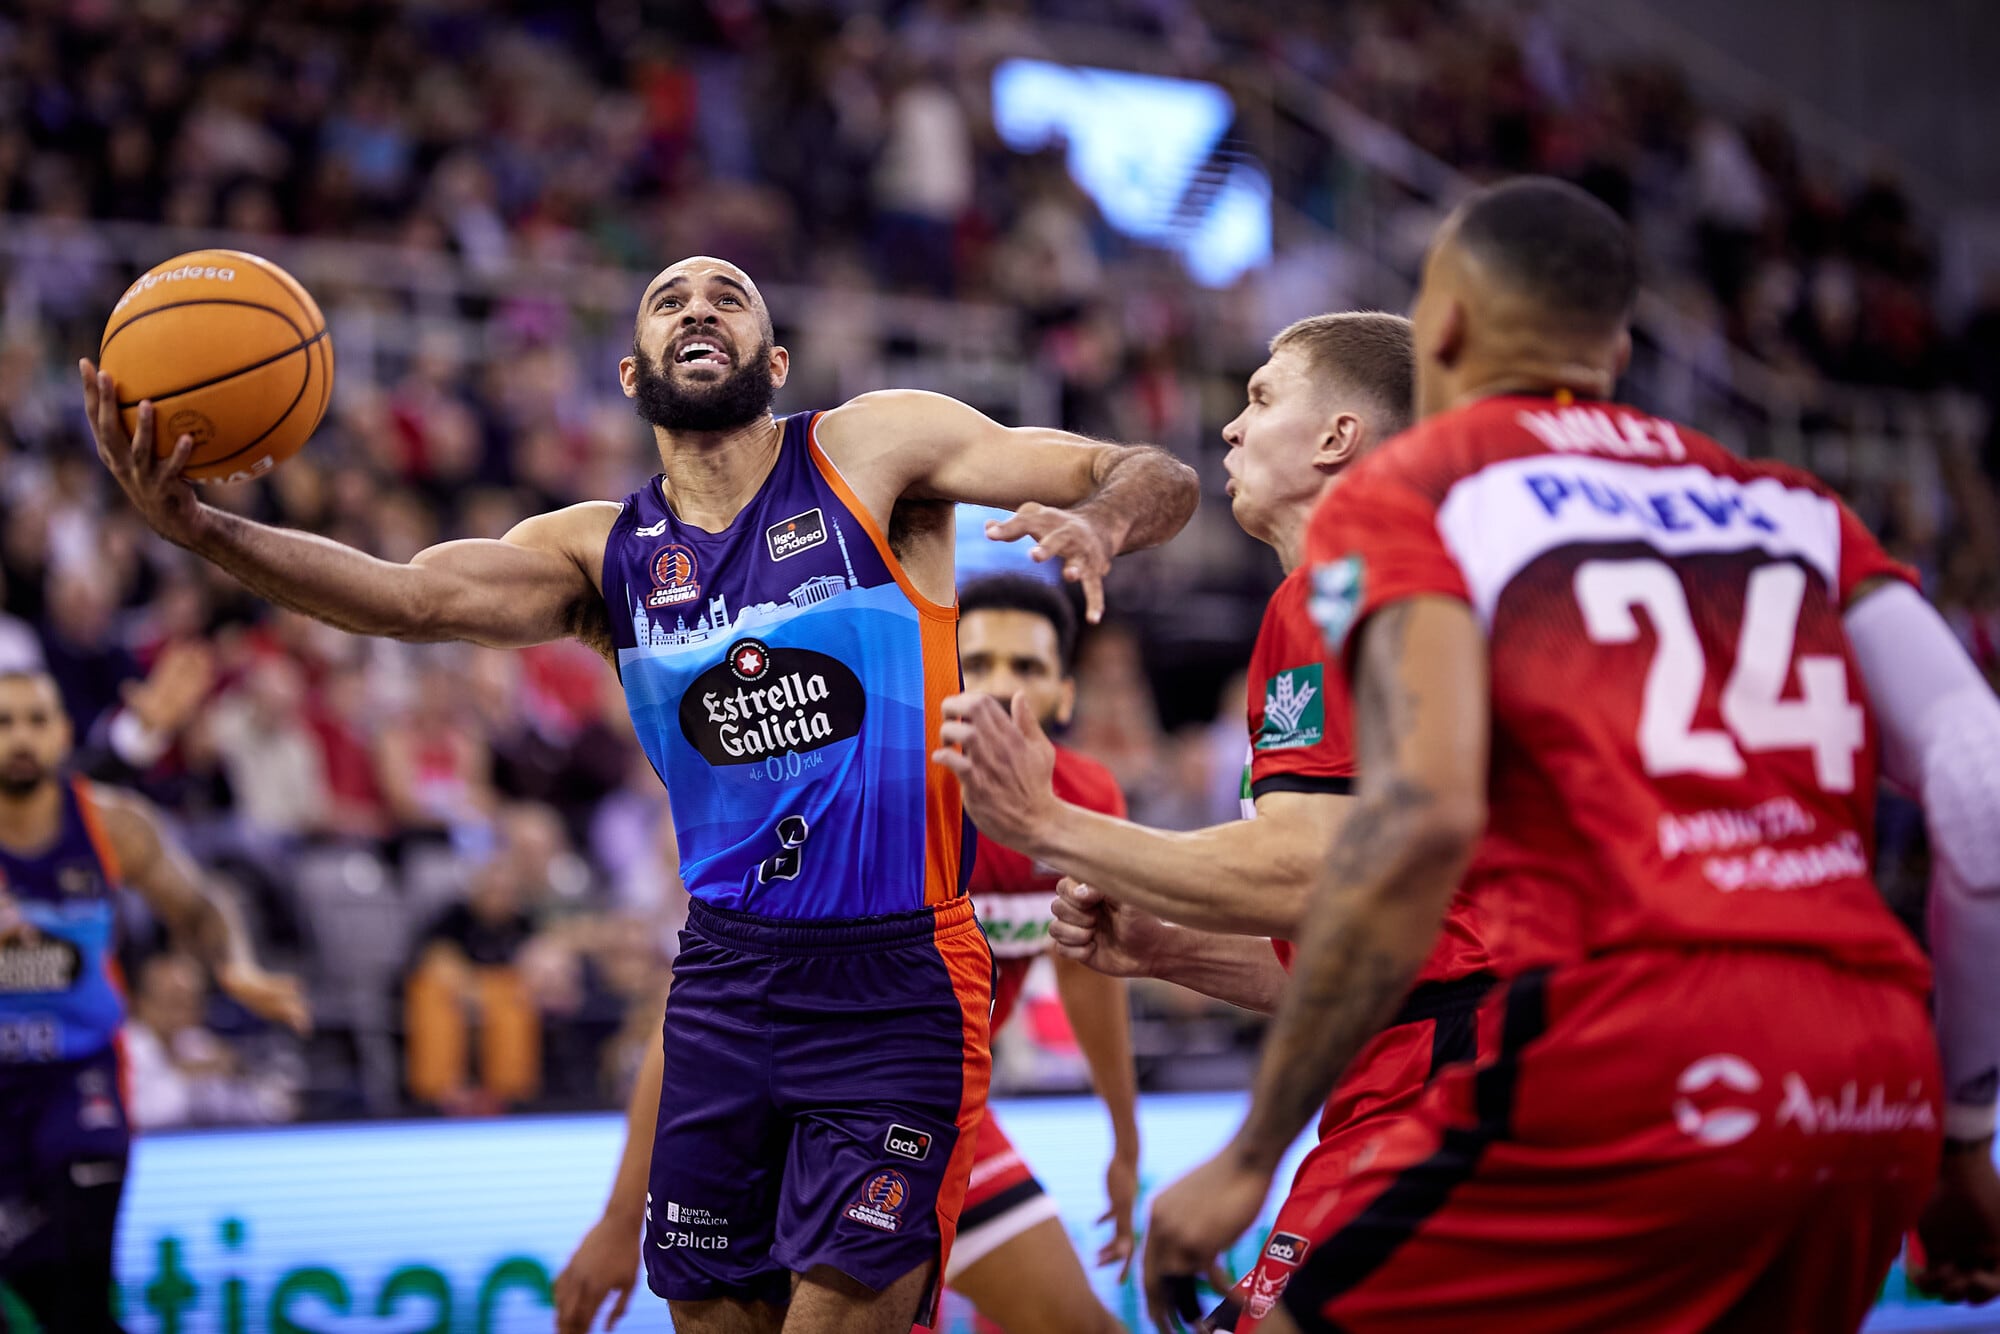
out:
{"label": "short-haired blond player in red, in profile facing the bearded player", "polygon": [[[968,748],[966,804],[980,828],[1084,880],[1064,884],[1050,928],[1070,958],[1276,1008],[1306,892],[1354,800],[1346,680],[1324,668],[1306,612],[1306,524],[1356,458],[1408,426],[1412,370],[1402,316],[1300,320],[1272,340],[1248,404],[1222,432],[1236,520],[1286,570],[1250,656],[1244,820],[1192,834],[1140,828],[1066,804],[1060,764],[1050,790],[1050,756],[1026,736]],[[1472,922],[1454,914],[1398,1020],[1326,1102],[1320,1142],[1210,1328],[1256,1328],[1308,1254],[1306,1234],[1338,1206],[1378,1122],[1410,1110],[1438,1070],[1474,1054],[1474,1014],[1492,986],[1484,968]]]}

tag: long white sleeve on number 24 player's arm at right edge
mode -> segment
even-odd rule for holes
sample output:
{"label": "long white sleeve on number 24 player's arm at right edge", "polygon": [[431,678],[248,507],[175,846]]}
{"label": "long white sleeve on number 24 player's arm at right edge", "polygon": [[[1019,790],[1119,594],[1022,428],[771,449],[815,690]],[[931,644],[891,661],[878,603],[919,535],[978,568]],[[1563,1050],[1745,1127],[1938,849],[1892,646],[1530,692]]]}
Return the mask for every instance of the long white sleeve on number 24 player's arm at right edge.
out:
{"label": "long white sleeve on number 24 player's arm at right edge", "polygon": [[1994,1132],[2000,1096],[2000,698],[1936,608],[1890,584],[1846,614],[1882,768],[1924,804],[1944,1130]]}

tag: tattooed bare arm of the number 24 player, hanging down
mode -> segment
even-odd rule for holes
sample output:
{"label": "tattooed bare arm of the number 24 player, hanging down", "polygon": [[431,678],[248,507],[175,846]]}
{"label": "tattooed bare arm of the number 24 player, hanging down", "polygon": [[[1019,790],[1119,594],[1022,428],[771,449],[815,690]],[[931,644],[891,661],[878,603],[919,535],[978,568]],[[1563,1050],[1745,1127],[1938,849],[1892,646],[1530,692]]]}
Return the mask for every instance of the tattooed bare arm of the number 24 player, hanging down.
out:
{"label": "tattooed bare arm of the number 24 player, hanging down", "polygon": [[1472,608],[1416,596],[1356,634],[1356,808],[1306,910],[1250,1116],[1152,1206],[1146,1292],[1156,1322],[1168,1276],[1200,1274],[1250,1226],[1284,1150],[1394,1016],[1486,826],[1490,706]]}

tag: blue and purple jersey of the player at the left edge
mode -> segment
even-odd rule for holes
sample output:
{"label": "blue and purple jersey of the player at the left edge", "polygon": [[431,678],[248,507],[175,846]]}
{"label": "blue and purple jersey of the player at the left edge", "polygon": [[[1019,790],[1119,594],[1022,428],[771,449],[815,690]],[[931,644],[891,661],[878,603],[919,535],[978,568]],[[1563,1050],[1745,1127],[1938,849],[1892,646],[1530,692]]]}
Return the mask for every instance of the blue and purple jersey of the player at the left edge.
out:
{"label": "blue and purple jersey of the player at the left edge", "polygon": [[82,780],[62,788],[52,844],[0,848],[0,896],[26,924],[0,944],[0,1066],[82,1060],[118,1038],[116,884],[118,862]]}

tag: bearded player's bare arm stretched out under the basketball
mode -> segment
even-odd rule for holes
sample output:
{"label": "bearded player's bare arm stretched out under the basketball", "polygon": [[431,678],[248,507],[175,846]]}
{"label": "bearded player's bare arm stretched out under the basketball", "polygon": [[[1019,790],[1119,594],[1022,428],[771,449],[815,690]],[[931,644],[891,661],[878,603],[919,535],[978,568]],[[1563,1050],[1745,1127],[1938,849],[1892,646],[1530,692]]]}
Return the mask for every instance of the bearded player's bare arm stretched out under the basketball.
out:
{"label": "bearded player's bare arm stretched out under the basketball", "polygon": [[616,504],[542,514],[498,542],[446,542],[410,564],[376,560],[204,504],[182,476],[192,440],[184,436],[172,456],[156,456],[152,404],[140,404],[138,436],[128,438],[112,378],[90,362],[82,370],[98,458],[134,508],[154,532],[212,560],[258,596],[340,630],[398,640],[520,648],[564,636],[600,638],[596,586]]}

